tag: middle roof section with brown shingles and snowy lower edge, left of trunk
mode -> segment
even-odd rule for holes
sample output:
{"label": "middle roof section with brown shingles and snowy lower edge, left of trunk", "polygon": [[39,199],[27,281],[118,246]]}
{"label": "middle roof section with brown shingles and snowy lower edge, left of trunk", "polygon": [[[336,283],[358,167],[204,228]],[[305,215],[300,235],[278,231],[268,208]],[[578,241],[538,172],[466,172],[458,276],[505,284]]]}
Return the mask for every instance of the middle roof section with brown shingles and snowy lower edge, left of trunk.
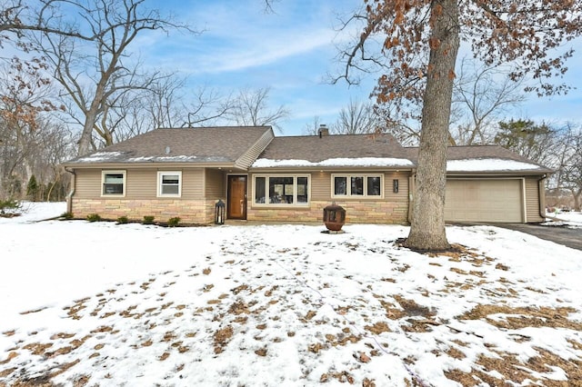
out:
{"label": "middle roof section with brown shingles and snowy lower edge, left of trunk", "polygon": [[390,134],[335,134],[276,137],[254,168],[323,166],[414,167]]}

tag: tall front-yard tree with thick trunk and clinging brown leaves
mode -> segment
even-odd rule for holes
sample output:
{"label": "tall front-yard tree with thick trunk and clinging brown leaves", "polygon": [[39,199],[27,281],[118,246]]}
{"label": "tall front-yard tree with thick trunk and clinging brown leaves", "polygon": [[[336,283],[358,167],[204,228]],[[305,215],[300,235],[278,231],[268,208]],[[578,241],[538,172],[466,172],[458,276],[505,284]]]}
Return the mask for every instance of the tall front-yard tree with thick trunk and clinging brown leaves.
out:
{"label": "tall front-yard tree with thick trunk and clinging brown leaves", "polygon": [[[564,74],[573,50],[560,46],[582,32],[582,2],[566,0],[365,0],[365,26],[343,54],[346,71],[380,65],[378,104],[422,104],[416,191],[406,245],[447,249],[444,207],[447,140],[455,65],[461,39],[485,65],[515,65],[513,80],[530,74],[539,95],[567,91],[548,79]],[[376,37],[380,36],[381,45]],[[372,53],[370,55],[369,53]]]}

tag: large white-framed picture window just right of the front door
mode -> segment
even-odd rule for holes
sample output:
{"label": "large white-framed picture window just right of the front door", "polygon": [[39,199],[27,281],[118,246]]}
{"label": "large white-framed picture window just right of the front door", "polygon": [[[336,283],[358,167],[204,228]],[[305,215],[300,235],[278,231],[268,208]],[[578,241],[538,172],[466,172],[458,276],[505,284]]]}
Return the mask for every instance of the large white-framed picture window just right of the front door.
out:
{"label": "large white-framed picture window just right of the front door", "polygon": [[255,204],[306,205],[309,203],[309,176],[255,175]]}

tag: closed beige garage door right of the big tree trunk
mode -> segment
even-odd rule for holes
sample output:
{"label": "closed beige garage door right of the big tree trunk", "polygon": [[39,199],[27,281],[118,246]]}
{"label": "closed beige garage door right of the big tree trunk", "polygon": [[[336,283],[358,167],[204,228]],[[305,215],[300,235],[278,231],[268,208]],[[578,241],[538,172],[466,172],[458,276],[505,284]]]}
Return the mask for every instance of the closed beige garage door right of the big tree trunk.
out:
{"label": "closed beige garage door right of the big tree trunk", "polygon": [[447,180],[447,222],[523,222],[521,180]]}

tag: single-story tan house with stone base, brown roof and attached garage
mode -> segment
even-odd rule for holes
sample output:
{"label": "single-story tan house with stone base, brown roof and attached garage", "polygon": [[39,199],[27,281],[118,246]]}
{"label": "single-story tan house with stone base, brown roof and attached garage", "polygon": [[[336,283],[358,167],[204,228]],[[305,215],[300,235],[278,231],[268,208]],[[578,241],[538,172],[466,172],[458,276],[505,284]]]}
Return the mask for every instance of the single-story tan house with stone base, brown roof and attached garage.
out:
{"label": "single-story tan house with stone base, brown roof and attached garage", "polygon": [[[156,129],[64,163],[75,218],[165,222],[321,222],[336,202],[348,223],[407,223],[417,148],[389,134],[275,136],[270,126]],[[449,222],[543,220],[551,170],[500,146],[448,148]]]}

